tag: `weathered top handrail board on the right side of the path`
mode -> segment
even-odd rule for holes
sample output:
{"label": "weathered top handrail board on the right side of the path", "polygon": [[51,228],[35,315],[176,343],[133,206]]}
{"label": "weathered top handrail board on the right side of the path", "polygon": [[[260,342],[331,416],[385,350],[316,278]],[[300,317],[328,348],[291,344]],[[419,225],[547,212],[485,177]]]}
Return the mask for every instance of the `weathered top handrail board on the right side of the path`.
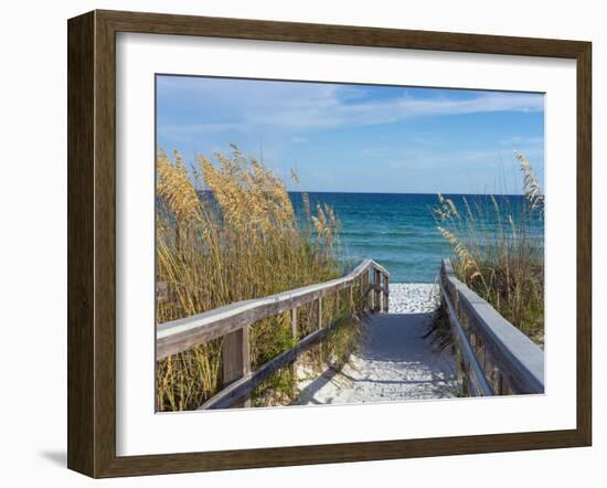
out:
{"label": "weathered top handrail board on the right side of the path", "polygon": [[544,351],[489,303],[457,279],[449,259],[441,264],[443,295],[483,368],[493,394],[544,393]]}

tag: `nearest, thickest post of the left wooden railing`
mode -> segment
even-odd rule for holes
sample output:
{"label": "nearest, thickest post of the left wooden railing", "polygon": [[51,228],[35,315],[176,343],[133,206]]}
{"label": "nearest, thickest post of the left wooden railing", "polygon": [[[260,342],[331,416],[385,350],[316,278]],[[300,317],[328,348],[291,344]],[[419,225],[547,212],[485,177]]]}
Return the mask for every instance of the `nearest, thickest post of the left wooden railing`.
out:
{"label": "nearest, thickest post of the left wooden railing", "polygon": [[[222,347],[222,380],[223,388],[251,373],[251,326],[243,327],[223,338]],[[251,399],[239,399],[232,407],[251,406]]]}

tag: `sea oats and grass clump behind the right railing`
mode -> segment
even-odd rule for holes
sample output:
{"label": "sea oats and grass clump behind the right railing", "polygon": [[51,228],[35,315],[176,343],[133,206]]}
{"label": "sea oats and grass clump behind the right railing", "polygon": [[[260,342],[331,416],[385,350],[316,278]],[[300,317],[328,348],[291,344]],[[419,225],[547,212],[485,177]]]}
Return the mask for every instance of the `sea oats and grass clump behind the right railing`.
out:
{"label": "sea oats and grass clump behind the right railing", "polygon": [[528,159],[517,153],[524,199],[489,197],[462,208],[438,195],[438,231],[451,245],[459,279],[533,341],[544,340],[544,197]]}

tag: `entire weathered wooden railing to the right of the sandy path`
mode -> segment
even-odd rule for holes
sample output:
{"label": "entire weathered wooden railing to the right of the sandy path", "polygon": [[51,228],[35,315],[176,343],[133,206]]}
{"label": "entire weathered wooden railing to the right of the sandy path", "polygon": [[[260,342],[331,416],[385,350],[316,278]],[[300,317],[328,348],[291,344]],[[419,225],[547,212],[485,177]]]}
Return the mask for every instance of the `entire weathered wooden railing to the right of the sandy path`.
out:
{"label": "entire weathered wooden railing to the right of the sandy path", "polygon": [[448,259],[440,289],[470,394],[544,393],[544,351],[457,279]]}

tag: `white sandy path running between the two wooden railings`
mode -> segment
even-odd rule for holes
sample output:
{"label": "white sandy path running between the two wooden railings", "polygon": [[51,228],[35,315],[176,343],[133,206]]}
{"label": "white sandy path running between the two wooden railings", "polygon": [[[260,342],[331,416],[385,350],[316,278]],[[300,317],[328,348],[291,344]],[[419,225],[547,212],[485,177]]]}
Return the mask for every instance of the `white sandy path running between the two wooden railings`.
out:
{"label": "white sandy path running between the two wooden railings", "polygon": [[300,383],[299,404],[368,403],[456,395],[456,363],[423,336],[435,307],[433,285],[391,285],[388,314],[365,322],[361,350],[341,372]]}

